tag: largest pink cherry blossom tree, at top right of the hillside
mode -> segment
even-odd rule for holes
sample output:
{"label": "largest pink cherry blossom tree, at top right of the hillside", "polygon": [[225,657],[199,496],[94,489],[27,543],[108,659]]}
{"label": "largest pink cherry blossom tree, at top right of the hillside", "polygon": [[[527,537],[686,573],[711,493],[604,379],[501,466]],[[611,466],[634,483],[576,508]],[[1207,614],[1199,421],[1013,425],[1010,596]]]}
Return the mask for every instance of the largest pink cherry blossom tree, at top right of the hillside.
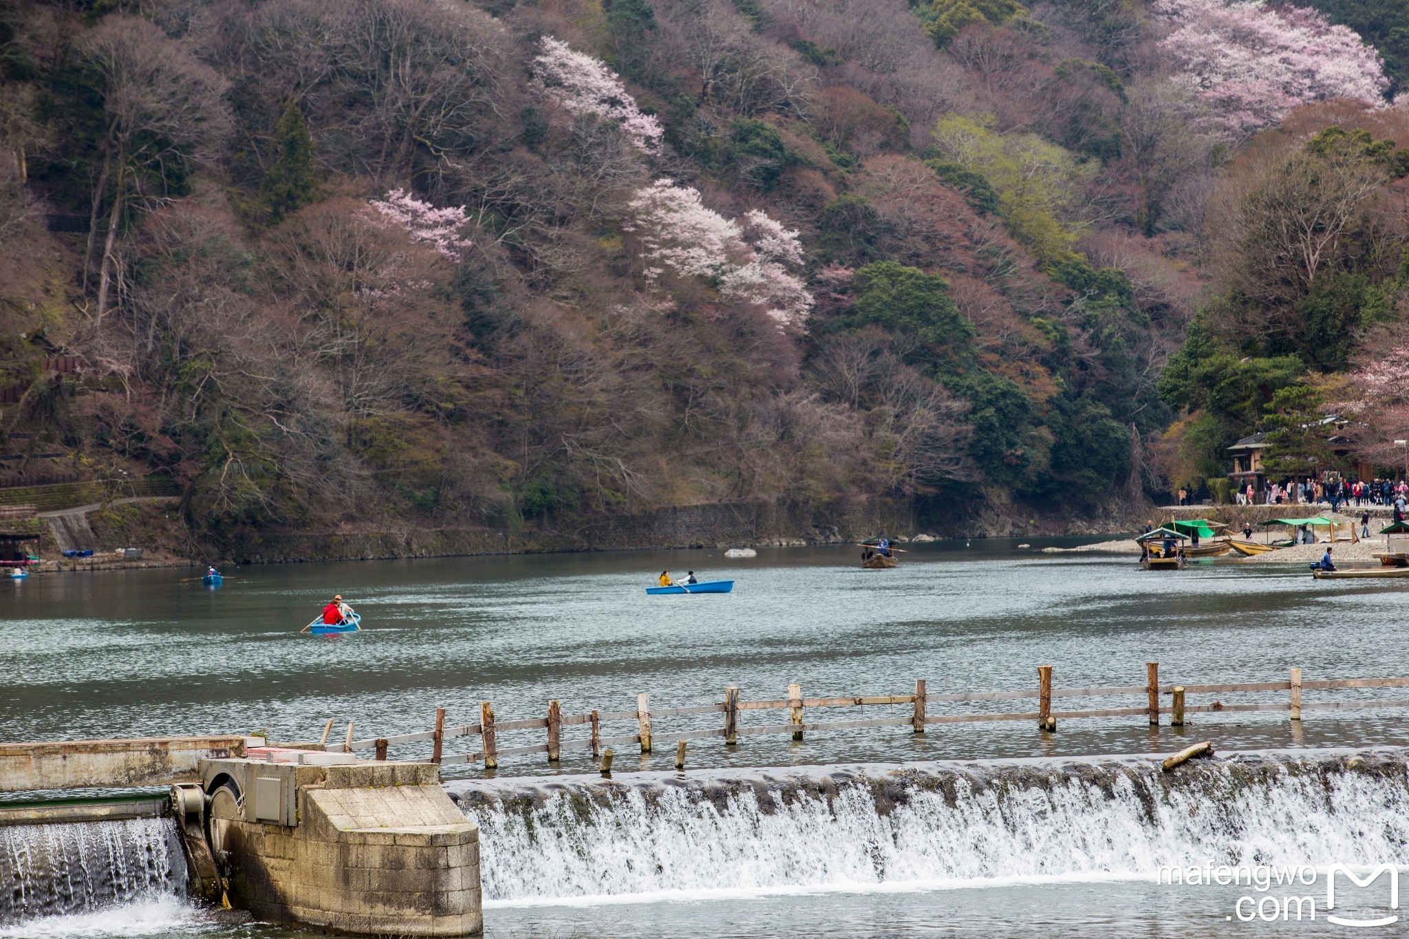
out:
{"label": "largest pink cherry blossom tree, at top right of the hillside", "polygon": [[1178,82],[1234,135],[1275,124],[1298,104],[1379,103],[1389,86],[1374,46],[1315,10],[1264,0],[1157,0],[1153,8],[1174,27],[1161,45],[1184,69]]}

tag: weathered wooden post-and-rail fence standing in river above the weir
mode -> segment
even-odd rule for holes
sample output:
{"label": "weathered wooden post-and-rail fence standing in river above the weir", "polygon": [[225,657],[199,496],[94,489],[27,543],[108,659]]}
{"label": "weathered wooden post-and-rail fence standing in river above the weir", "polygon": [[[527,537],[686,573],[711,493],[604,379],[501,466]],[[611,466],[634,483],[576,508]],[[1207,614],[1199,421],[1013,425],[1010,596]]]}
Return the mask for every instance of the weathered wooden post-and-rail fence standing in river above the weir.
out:
{"label": "weathered wooden post-and-rail fence standing in river above the weir", "polygon": [[[373,750],[375,759],[387,759],[392,746],[403,743],[431,743],[433,763],[483,763],[485,769],[495,769],[499,760],[506,756],[523,756],[530,753],[545,753],[550,763],[557,763],[564,750],[589,749],[593,759],[602,756],[609,746],[640,745],[641,753],[650,753],[652,741],[657,736],[654,722],[665,718],[688,715],[716,714],[723,718],[723,726],[690,728],[671,731],[661,736],[678,742],[676,766],[683,764],[685,742],[703,738],[724,738],[726,745],[738,742],[741,736],[755,736],[768,733],[790,733],[793,741],[802,741],[805,733],[824,731],[851,731],[872,726],[905,726],[909,725],[914,733],[924,733],[926,728],[947,724],[979,724],[995,721],[1033,721],[1038,731],[1054,732],[1057,721],[1079,718],[1117,718],[1144,717],[1150,726],[1160,725],[1160,715],[1169,715],[1171,726],[1182,726],[1189,714],[1217,714],[1244,711],[1288,711],[1292,721],[1301,721],[1303,711],[1340,711],[1357,708],[1402,708],[1409,707],[1409,698],[1401,700],[1348,700],[1348,701],[1302,701],[1302,691],[1323,691],[1337,688],[1401,688],[1409,687],[1409,679],[1302,679],[1301,669],[1292,669],[1285,681],[1246,681],[1233,684],[1161,684],[1160,663],[1146,663],[1146,683],[1120,687],[1092,687],[1092,688],[1057,688],[1053,687],[1053,667],[1037,667],[1037,687],[1019,691],[961,691],[930,694],[924,679],[914,683],[912,694],[878,694],[878,695],[833,695],[820,698],[805,698],[802,687],[788,686],[788,697],[766,701],[740,700],[738,688],[724,688],[724,700],[717,704],[699,704],[688,707],[672,707],[652,710],[650,695],[638,694],[635,708],[630,711],[597,711],[588,714],[562,714],[558,701],[548,701],[547,714],[541,718],[524,718],[514,721],[500,721],[495,717],[495,708],[489,701],[479,705],[479,722],[462,724],[458,726],[445,725],[445,708],[435,710],[435,726],[430,731],[416,733],[400,733],[395,736],[376,736],[354,739],[354,725],[348,724],[347,738],[342,743],[344,752]],[[1285,701],[1262,701],[1250,704],[1224,704],[1220,700],[1208,704],[1186,704],[1186,695],[1226,695],[1241,693],[1286,691]],[[1144,704],[1123,708],[1098,708],[1086,711],[1054,711],[1053,701],[1060,698],[1098,698],[1141,695]],[[1168,702],[1161,698],[1168,695]],[[981,712],[981,714],[936,714],[929,705],[962,704],[975,701],[1024,701],[1036,700],[1036,711],[1019,712]],[[875,705],[910,705],[910,712],[902,717],[861,718],[845,721],[812,721],[805,719],[805,712],[814,708],[865,708]],[[748,711],[788,711],[786,724],[743,725],[740,715]],[[603,735],[602,725],[612,722],[635,722],[634,733]],[[576,739],[564,739],[564,729],[582,726],[589,735]],[[333,729],[333,721],[327,722],[323,731],[323,741],[327,743]],[[545,741],[520,746],[500,746],[499,735],[521,731],[542,731]],[[471,753],[445,753],[445,742],[462,736],[480,738],[480,749]]]}

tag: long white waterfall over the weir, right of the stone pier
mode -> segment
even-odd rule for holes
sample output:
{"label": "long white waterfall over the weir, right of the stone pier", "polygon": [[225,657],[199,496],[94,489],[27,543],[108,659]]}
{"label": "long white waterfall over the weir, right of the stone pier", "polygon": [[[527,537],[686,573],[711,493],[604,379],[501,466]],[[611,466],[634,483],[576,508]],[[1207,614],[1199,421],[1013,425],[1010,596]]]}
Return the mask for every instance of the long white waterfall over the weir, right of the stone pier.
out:
{"label": "long white waterfall over the weir, right of the stone pier", "polygon": [[631,773],[449,784],[485,898],[905,890],[1161,866],[1409,862],[1409,750]]}

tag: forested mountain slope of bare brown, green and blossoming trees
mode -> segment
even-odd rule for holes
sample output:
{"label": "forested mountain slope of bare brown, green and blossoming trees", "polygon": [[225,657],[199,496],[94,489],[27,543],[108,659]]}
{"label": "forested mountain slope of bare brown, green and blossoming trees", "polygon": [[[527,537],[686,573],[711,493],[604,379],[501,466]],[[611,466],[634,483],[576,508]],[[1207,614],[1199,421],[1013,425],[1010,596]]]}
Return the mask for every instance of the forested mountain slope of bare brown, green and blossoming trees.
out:
{"label": "forested mountain slope of bare brown, green and blossoming trees", "polygon": [[7,0],[6,452],[217,536],[1138,501],[1395,328],[1396,62],[1255,1]]}

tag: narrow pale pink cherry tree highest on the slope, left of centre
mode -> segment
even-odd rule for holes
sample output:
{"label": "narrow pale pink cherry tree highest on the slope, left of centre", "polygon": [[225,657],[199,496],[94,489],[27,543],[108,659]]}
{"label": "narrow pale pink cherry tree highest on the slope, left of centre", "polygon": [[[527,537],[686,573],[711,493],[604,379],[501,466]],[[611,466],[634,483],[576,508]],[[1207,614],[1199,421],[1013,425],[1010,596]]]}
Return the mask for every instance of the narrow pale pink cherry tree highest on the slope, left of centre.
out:
{"label": "narrow pale pink cherry tree highest on the slope, left of centre", "polygon": [[661,122],[641,113],[616,72],[551,35],[542,37],[540,48],[542,52],[533,61],[534,87],[573,117],[593,114],[616,121],[643,153],[661,152]]}

